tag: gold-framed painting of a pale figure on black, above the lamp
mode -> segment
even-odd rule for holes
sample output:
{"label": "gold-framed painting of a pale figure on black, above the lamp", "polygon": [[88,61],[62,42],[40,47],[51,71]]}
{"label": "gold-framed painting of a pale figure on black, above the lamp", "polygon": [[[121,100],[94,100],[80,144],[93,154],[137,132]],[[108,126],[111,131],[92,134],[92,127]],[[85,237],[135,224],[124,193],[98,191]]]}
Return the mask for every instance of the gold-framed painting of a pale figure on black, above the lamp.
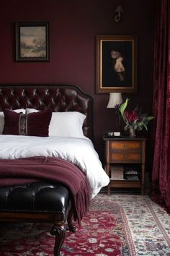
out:
{"label": "gold-framed painting of a pale figure on black, above the lamp", "polygon": [[137,38],[97,35],[97,93],[136,93]]}

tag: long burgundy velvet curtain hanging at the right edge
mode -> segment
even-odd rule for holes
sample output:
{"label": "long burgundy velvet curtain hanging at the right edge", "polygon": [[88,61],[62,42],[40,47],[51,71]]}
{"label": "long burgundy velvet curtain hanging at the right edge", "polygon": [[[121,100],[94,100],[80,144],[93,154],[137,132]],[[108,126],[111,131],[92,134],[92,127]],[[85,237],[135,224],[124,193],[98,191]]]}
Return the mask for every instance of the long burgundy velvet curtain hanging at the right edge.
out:
{"label": "long burgundy velvet curtain hanging at the right edge", "polygon": [[170,213],[170,0],[156,3],[153,113],[156,137],[151,199]]}

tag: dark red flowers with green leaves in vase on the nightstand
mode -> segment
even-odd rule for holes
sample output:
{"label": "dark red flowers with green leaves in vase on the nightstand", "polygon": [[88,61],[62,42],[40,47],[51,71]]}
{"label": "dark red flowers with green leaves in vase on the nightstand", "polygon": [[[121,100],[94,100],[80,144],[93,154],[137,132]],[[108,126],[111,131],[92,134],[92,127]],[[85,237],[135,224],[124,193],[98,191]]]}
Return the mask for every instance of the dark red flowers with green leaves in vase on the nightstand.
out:
{"label": "dark red flowers with green leaves in vase on the nightstand", "polygon": [[142,114],[142,108],[138,108],[138,106],[133,111],[126,111],[125,109],[128,106],[129,98],[120,106],[118,106],[120,114],[122,116],[123,121],[125,121],[124,129],[127,130],[131,126],[133,129],[142,130],[143,127],[148,130],[147,125],[148,122],[154,119],[154,116],[148,116],[148,114]]}

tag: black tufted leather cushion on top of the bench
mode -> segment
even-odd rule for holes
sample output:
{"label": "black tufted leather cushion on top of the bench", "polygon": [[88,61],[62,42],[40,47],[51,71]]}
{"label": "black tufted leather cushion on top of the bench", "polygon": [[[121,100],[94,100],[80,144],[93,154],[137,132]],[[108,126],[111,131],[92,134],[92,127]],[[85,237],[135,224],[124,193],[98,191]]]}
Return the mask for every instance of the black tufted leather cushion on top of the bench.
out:
{"label": "black tufted leather cushion on top of the bench", "polygon": [[66,218],[68,190],[61,184],[35,182],[0,188],[0,211],[16,213],[59,213]]}

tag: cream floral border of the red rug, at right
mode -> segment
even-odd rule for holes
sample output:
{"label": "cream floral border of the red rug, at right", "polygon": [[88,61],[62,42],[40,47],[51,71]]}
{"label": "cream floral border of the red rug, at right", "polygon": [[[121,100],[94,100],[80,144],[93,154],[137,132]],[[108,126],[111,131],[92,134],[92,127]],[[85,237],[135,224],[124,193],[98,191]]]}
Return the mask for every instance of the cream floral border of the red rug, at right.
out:
{"label": "cream floral border of the red rug, at right", "polygon": [[170,216],[163,208],[141,195],[113,195],[109,202],[120,206],[126,234],[130,230],[130,255],[170,256]]}

